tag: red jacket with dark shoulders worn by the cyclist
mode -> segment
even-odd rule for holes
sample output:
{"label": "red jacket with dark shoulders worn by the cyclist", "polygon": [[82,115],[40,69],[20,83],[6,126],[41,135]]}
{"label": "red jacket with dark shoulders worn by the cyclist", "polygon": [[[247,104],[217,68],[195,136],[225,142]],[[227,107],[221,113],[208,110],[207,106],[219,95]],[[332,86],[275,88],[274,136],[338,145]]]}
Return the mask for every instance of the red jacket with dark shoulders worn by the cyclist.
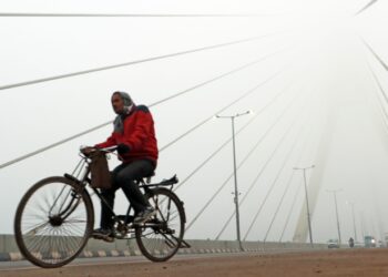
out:
{"label": "red jacket with dark shoulders worn by the cyclist", "polygon": [[154,121],[149,107],[134,106],[134,110],[124,119],[123,133],[114,132],[105,142],[96,147],[109,147],[121,143],[127,145],[130,151],[120,157],[124,163],[147,158],[157,161],[157,142],[155,137]]}

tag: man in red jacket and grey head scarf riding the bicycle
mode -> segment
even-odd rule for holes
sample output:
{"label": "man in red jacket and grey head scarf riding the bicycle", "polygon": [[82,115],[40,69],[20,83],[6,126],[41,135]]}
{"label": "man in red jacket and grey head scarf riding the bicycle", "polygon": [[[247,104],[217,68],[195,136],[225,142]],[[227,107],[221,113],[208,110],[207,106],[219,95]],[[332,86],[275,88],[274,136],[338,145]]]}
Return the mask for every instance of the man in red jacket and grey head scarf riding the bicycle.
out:
{"label": "man in red jacket and grey head scarf riding the bicycle", "polygon": [[[118,145],[119,160],[122,161],[122,164],[112,172],[112,187],[101,189],[101,193],[113,209],[115,191],[121,187],[135,211],[134,224],[140,225],[155,214],[154,208],[134,182],[151,176],[156,167],[159,152],[154,122],[150,110],[145,105],[135,105],[125,92],[114,92],[111,101],[118,114],[113,122],[113,133],[105,142],[95,144],[94,147]],[[83,152],[88,154],[92,150],[93,147],[88,147]],[[101,203],[100,228],[94,229],[92,236],[113,242],[112,227],[112,213],[106,205]]]}

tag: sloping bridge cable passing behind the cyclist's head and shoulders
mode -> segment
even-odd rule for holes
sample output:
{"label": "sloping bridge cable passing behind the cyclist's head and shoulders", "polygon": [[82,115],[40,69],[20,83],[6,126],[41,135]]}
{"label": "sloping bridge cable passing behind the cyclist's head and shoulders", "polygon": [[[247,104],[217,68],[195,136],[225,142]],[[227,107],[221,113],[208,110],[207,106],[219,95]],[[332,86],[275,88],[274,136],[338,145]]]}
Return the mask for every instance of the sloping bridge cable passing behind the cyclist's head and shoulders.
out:
{"label": "sloping bridge cable passing behind the cyclist's head and shoulders", "polygon": [[[279,52],[279,51],[277,51],[277,52]],[[270,54],[268,54],[267,57],[270,57],[270,55],[273,55],[273,54],[275,54],[275,53],[277,53],[277,52],[270,53]],[[161,103],[163,103],[163,102],[166,102],[166,101],[172,100],[172,99],[174,99],[174,98],[177,98],[177,96],[181,96],[181,95],[183,95],[183,94],[186,94],[186,93],[188,93],[188,92],[191,92],[191,91],[193,91],[193,90],[195,90],[195,89],[198,89],[200,86],[206,85],[206,84],[208,84],[208,83],[211,83],[211,82],[214,82],[214,81],[216,81],[216,80],[219,80],[221,78],[224,78],[224,76],[226,76],[226,75],[228,75],[228,74],[232,74],[232,73],[235,73],[235,72],[237,72],[237,71],[239,71],[239,70],[246,69],[247,66],[251,66],[251,65],[257,63],[258,61],[265,60],[267,57],[263,57],[263,58],[261,58],[259,60],[256,60],[256,61],[254,61],[254,62],[249,62],[249,63],[247,63],[247,64],[244,64],[244,65],[242,65],[242,66],[238,66],[237,69],[234,69],[234,70],[228,71],[228,72],[226,72],[226,73],[223,73],[223,74],[221,74],[221,75],[218,75],[218,76],[215,76],[215,78],[213,78],[213,79],[211,79],[211,80],[207,80],[207,81],[205,81],[205,82],[202,82],[202,83],[200,83],[200,84],[196,84],[196,85],[194,85],[194,86],[192,86],[192,88],[190,88],[190,89],[186,89],[186,90],[184,90],[184,91],[181,91],[181,92],[178,92],[178,93],[175,93],[175,94],[173,94],[173,95],[170,95],[170,96],[167,96],[167,98],[165,98],[165,99],[159,100],[159,101],[156,101],[156,102],[150,104],[149,106],[150,106],[150,107],[156,106],[156,105],[159,105],[159,104],[161,104]],[[277,75],[277,74],[279,74],[279,72],[275,73],[273,76],[275,76],[275,75]],[[50,145],[48,145],[48,146],[44,146],[44,147],[42,147],[42,148],[39,148],[39,150],[37,150],[37,151],[33,151],[33,152],[31,152],[31,153],[24,154],[24,155],[22,155],[22,156],[19,156],[19,157],[17,157],[17,158],[13,158],[13,160],[11,160],[11,161],[9,161],[9,162],[6,162],[6,163],[3,163],[3,164],[0,164],[0,170],[3,168],[3,167],[10,166],[10,165],[12,165],[12,164],[14,164],[14,163],[21,162],[21,161],[23,161],[23,160],[25,160],[25,158],[29,158],[29,157],[31,157],[31,156],[34,156],[34,155],[37,155],[37,154],[40,154],[40,153],[42,153],[42,152],[45,152],[45,151],[48,151],[48,150],[50,150],[50,148],[53,148],[53,147],[55,147],[55,146],[59,146],[59,145],[61,145],[61,144],[64,144],[64,143],[69,142],[69,141],[72,141],[72,140],[74,140],[74,138],[78,138],[78,137],[80,137],[80,136],[82,136],[82,135],[85,135],[85,134],[88,134],[88,133],[94,132],[94,131],[96,131],[96,130],[99,130],[99,129],[102,129],[102,127],[109,125],[109,124],[112,124],[112,121],[102,123],[102,124],[96,125],[96,126],[94,126],[94,127],[92,127],[92,129],[85,130],[85,131],[83,131],[83,132],[81,132],[81,133],[78,133],[78,134],[75,134],[75,135],[72,135],[72,136],[70,136],[70,137],[67,137],[67,138],[61,140],[61,141],[59,141],[59,142],[55,142],[55,143],[50,144]],[[183,136],[184,136],[184,135],[183,135]],[[171,143],[170,143],[170,144],[171,144]],[[170,146],[170,145],[164,146],[164,148],[166,148],[167,146]]]}

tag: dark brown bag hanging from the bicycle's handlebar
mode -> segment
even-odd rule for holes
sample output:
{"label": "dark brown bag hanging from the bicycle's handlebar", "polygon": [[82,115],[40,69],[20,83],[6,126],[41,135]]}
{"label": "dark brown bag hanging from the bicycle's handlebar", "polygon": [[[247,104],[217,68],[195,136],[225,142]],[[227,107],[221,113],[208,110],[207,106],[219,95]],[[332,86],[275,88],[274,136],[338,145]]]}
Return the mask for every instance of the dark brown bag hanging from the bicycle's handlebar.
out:
{"label": "dark brown bag hanging from the bicycle's handlebar", "polygon": [[111,188],[112,179],[109,171],[105,153],[95,151],[90,158],[90,172],[92,174],[91,186],[95,188]]}

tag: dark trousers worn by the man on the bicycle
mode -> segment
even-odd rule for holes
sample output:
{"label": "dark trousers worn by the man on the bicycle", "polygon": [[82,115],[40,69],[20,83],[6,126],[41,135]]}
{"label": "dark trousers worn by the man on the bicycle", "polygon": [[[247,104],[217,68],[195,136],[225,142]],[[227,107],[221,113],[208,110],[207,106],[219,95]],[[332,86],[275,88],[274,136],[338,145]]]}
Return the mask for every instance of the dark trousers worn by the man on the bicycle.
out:
{"label": "dark trousers worn by the man on the bicycle", "polygon": [[[112,172],[112,187],[101,189],[101,194],[113,209],[115,192],[121,187],[130,201],[135,213],[142,212],[149,206],[149,202],[140,191],[134,179],[150,176],[155,170],[154,164],[149,160],[139,160],[127,164],[121,164]],[[101,202],[101,228],[112,228],[112,212]]]}

